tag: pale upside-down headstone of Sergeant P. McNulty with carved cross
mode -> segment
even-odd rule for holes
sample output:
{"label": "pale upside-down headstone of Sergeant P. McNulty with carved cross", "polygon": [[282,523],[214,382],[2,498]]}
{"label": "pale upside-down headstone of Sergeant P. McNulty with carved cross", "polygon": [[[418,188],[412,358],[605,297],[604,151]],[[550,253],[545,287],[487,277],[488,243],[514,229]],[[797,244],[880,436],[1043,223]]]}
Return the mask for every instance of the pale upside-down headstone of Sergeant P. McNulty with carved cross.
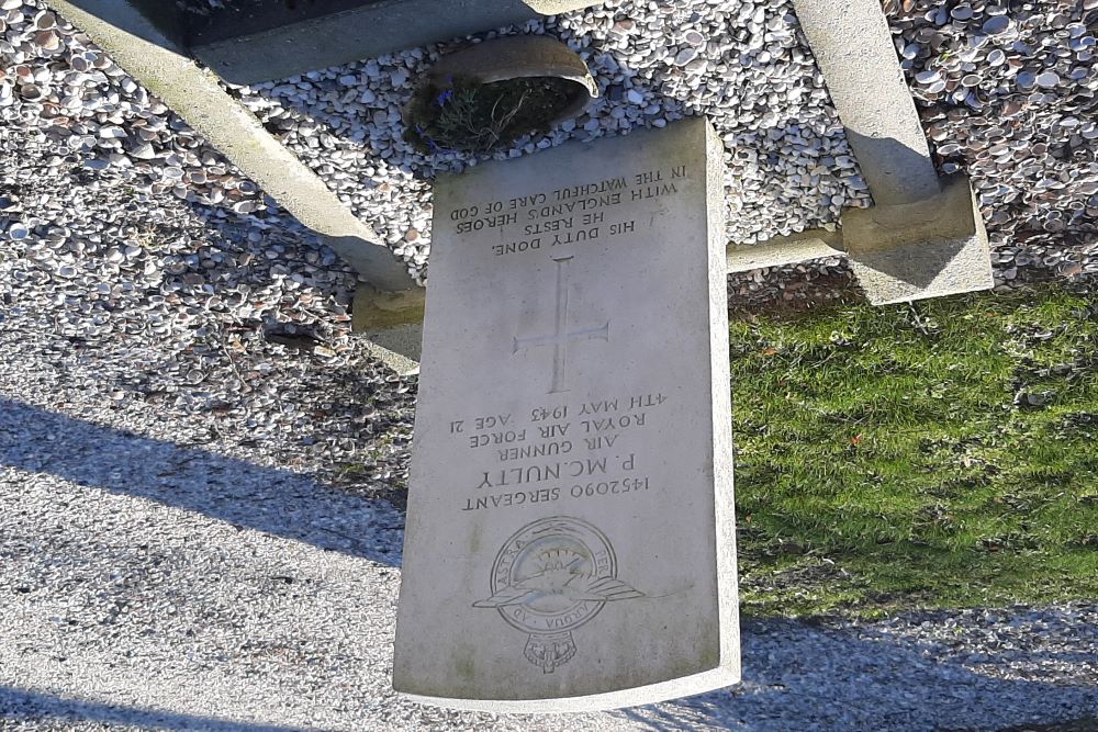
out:
{"label": "pale upside-down headstone of Sergeant P. McNulty with carved cross", "polygon": [[399,691],[739,680],[721,160],[695,119],[437,181]]}

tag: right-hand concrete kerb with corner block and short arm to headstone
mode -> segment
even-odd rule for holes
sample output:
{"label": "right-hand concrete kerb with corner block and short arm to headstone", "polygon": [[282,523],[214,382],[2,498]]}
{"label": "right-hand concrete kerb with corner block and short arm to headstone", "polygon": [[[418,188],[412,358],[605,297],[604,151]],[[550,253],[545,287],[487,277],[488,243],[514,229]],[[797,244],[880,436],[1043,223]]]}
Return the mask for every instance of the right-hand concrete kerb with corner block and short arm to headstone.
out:
{"label": "right-hand concrete kerb with corner block and short arm to headstone", "polygon": [[[879,0],[794,0],[875,205],[842,232],[728,252],[729,271],[845,251],[875,305],[994,286],[987,232],[964,177],[940,181]],[[944,183],[944,185],[943,185]]]}

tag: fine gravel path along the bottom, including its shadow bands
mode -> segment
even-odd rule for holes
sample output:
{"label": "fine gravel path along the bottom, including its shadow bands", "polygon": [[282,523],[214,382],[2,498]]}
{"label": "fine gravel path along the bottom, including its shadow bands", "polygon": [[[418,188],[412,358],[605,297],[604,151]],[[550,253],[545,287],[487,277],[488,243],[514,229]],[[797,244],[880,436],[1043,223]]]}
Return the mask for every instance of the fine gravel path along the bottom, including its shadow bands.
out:
{"label": "fine gravel path along the bottom, including its shadow bands", "polygon": [[741,686],[620,712],[411,705],[389,688],[386,504],[170,441],[199,417],[11,374],[0,393],[0,729],[994,730],[1098,709],[1094,605],[749,621]]}

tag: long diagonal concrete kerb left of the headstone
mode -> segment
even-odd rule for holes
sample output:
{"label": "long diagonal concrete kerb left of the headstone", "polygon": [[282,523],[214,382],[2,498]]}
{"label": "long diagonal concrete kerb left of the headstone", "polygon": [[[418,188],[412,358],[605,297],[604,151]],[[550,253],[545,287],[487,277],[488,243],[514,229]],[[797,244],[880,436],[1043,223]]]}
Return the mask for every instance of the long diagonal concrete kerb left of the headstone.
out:
{"label": "long diagonal concrete kerb left of the headstone", "polygon": [[[200,68],[172,40],[154,26],[128,0],[49,0],[127,74],[157,94],[200,132],[246,176],[259,183],[301,223],[326,243],[378,291],[400,293],[402,302],[423,301],[423,288],[405,266],[379,241],[290,150],[274,139],[243,105],[227,94],[209,70]],[[414,318],[415,308],[405,308]],[[395,323],[384,313],[388,328]],[[413,319],[414,322],[414,319]],[[388,328],[380,328],[381,330]],[[394,341],[397,345],[404,340]],[[418,350],[414,351],[418,358]],[[384,360],[406,369],[406,358],[379,351]]]}

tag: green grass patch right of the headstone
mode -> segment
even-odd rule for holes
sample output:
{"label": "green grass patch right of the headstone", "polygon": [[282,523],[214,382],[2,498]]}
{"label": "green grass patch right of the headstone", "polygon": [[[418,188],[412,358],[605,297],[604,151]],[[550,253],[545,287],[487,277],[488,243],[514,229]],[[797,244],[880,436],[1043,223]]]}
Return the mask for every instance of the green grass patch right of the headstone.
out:
{"label": "green grass patch right of the headstone", "polygon": [[746,612],[1098,597],[1080,285],[761,315],[731,356]]}

